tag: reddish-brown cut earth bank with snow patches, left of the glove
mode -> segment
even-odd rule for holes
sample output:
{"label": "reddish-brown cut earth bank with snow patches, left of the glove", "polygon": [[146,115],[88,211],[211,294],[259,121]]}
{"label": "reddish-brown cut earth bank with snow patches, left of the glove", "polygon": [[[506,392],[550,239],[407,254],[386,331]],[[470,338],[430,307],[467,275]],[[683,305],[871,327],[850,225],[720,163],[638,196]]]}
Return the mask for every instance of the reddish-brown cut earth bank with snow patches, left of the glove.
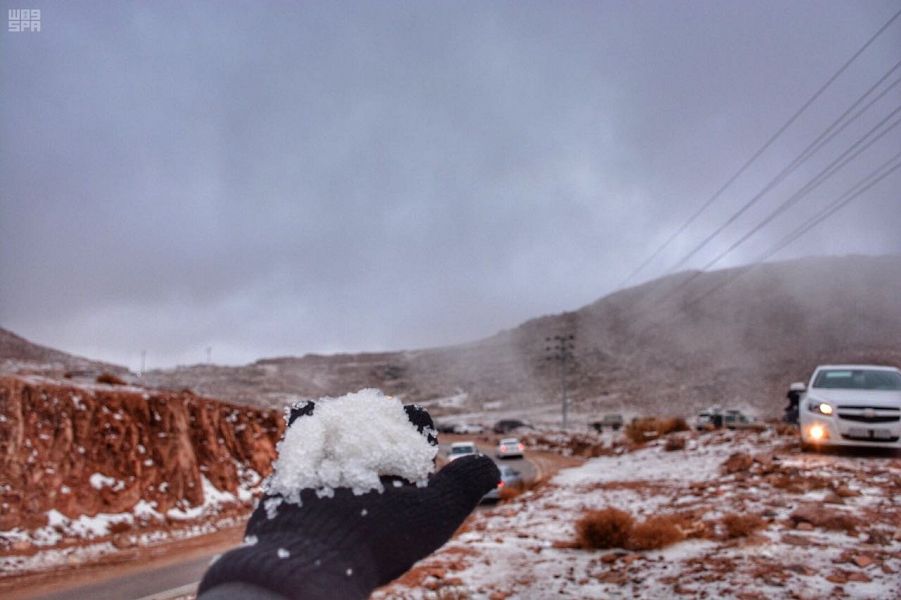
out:
{"label": "reddish-brown cut earth bank with snow patches, left of the glove", "polygon": [[0,541],[48,518],[125,514],[137,526],[248,504],[283,427],[275,411],[190,393],[0,377]]}

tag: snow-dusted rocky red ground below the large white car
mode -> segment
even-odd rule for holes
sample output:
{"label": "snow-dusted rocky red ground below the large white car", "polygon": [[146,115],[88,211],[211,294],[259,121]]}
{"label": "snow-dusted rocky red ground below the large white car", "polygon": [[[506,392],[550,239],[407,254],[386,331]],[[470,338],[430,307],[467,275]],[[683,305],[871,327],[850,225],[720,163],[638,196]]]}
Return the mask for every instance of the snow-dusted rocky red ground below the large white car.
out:
{"label": "snow-dusted rocky red ground below the large white car", "polygon": [[[676,434],[686,436],[686,434]],[[562,471],[464,524],[374,598],[897,598],[901,459],[801,454],[773,432],[687,434]],[[578,548],[576,521],[615,507],[680,515],[659,550]],[[763,527],[730,536],[727,514]]]}

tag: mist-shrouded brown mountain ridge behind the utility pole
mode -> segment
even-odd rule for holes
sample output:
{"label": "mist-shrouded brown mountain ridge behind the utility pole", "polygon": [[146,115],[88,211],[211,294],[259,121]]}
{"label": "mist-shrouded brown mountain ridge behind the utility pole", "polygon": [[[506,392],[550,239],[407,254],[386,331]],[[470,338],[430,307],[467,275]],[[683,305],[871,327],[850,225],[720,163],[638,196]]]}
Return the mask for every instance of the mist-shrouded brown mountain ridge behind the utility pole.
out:
{"label": "mist-shrouded brown mountain ridge behind the utility pole", "polygon": [[372,386],[439,415],[551,420],[561,380],[546,338],[572,335],[576,419],[711,404],[773,416],[788,384],[817,364],[901,364],[899,299],[899,256],[806,258],[679,273],[470,344],[198,365],[146,383],[263,406]]}

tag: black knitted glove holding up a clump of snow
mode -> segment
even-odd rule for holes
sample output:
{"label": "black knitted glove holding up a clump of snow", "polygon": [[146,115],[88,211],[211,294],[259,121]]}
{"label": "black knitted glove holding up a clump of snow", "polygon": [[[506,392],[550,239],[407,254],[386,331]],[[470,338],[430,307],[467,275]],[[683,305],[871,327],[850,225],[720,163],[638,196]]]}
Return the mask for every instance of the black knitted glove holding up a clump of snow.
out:
{"label": "black knitted glove holding up a clump of snow", "polygon": [[[429,414],[420,407],[404,408],[419,432],[437,445]],[[293,409],[289,427],[314,409],[312,402]],[[265,507],[273,496],[266,495],[247,524],[245,539],[255,543],[231,550],[209,568],[199,600],[228,597],[217,589],[236,584],[286,598],[367,598],[440,548],[499,480],[490,458],[467,456],[422,488],[388,477],[382,478],[381,493],[358,496],[341,488],[320,498],[315,490],[302,490],[300,505],[281,502],[272,519]]]}

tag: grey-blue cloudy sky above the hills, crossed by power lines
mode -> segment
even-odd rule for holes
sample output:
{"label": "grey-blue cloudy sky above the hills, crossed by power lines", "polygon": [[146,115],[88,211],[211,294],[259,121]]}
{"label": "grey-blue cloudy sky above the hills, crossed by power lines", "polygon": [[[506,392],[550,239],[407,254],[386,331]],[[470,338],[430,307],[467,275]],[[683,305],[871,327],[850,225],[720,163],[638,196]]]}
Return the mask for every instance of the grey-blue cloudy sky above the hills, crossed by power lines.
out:
{"label": "grey-blue cloudy sky above the hills, crossed by power lines", "polygon": [[[241,363],[449,344],[591,302],[898,9],[33,4],[39,33],[0,34],[0,325],[132,368],[142,349],[159,367],[208,346]],[[899,59],[901,19],[634,282],[667,273]],[[899,104],[901,85],[688,265]],[[716,266],[754,260],[898,149],[901,127]],[[899,185],[776,258],[901,252]]]}

